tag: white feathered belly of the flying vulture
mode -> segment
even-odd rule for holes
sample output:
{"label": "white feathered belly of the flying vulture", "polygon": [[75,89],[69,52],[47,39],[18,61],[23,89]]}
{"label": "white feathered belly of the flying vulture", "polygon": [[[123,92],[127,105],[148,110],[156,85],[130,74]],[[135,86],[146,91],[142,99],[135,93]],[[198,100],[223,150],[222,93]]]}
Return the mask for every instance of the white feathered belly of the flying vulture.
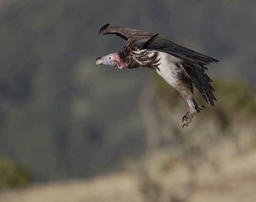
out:
{"label": "white feathered belly of the flying vulture", "polygon": [[156,70],[163,79],[173,88],[179,88],[180,76],[184,73],[183,67],[180,64],[180,59],[164,52],[158,52],[158,58],[161,58],[158,65],[159,70]]}

